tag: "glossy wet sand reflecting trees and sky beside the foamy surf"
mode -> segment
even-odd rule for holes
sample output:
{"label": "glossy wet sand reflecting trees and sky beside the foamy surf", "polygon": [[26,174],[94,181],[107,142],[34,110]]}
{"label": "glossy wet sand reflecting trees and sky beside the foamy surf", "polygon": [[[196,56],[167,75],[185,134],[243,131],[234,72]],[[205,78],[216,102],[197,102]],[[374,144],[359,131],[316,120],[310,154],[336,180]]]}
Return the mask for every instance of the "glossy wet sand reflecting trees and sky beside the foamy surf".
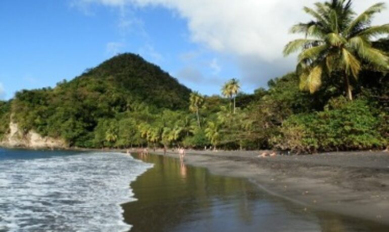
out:
{"label": "glossy wet sand reflecting trees and sky beside the foamy surf", "polygon": [[131,231],[388,231],[358,219],[305,211],[246,180],[187,166],[184,159],[135,157],[155,166],[131,184],[138,201],[123,205]]}

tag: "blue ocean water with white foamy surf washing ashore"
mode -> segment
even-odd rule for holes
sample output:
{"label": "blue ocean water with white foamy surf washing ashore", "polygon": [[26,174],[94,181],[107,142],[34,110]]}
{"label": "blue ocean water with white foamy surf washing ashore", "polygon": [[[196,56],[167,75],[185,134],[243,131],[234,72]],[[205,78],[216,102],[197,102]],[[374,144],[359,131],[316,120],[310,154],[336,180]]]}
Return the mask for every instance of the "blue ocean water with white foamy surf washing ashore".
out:
{"label": "blue ocean water with white foamy surf washing ashore", "polygon": [[0,231],[126,231],[129,184],[153,165],[108,152],[0,149]]}

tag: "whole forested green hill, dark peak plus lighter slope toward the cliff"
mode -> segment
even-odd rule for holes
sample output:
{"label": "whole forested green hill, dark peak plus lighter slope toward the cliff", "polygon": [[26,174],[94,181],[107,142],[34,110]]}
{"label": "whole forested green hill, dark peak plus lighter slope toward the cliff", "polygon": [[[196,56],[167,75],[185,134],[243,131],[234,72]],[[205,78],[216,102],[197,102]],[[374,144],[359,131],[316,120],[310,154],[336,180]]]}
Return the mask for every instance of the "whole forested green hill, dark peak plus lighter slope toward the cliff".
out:
{"label": "whole forested green hill, dark peak plus lighter slope toward the cliff", "polygon": [[186,109],[190,92],[158,66],[126,53],[55,88],[18,92],[11,105],[24,132],[34,129],[71,146],[90,146],[85,143],[93,139],[100,120],[144,108]]}

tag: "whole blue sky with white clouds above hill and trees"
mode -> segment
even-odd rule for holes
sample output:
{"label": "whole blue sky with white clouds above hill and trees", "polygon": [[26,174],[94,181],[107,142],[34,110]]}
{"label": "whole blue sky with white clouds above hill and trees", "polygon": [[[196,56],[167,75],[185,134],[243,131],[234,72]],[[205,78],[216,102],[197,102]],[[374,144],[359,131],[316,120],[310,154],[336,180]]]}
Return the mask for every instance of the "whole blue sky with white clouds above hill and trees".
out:
{"label": "whole blue sky with white clouds above hill and trees", "polygon": [[[252,93],[293,71],[288,29],[317,0],[1,0],[0,99],[71,80],[124,52],[192,90],[219,94],[237,78]],[[357,13],[376,3],[355,0]],[[384,0],[389,6],[389,0]],[[388,11],[373,24],[388,22]]]}

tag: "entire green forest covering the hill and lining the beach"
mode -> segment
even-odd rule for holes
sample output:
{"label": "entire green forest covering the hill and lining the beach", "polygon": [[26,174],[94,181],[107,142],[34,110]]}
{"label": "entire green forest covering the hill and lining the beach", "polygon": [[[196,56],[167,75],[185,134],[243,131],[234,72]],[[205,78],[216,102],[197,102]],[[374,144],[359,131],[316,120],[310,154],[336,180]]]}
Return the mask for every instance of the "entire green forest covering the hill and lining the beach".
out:
{"label": "entire green forest covering the hill and lining the beach", "polygon": [[[342,11],[347,17],[351,14],[350,6],[344,1],[333,0],[326,4],[323,5],[327,6],[326,11],[321,14],[332,16],[323,20],[341,17]],[[327,12],[331,7],[345,9],[336,14]],[[306,12],[313,14],[310,9]],[[338,22],[344,25],[338,24],[338,27],[347,30],[351,18],[342,20]],[[319,28],[322,26],[311,22],[313,28],[305,29],[310,33],[333,30]],[[363,31],[368,26],[366,21],[359,28]],[[387,26],[382,27],[386,30]],[[317,71],[311,65],[328,60],[338,46],[342,47],[339,52],[347,53],[343,49],[350,49],[348,57],[357,54],[359,59],[358,72],[352,70],[351,63],[347,65],[346,61],[339,60],[341,66],[331,72],[326,72],[325,69],[329,69],[326,67],[309,74],[308,77],[314,75],[310,77],[312,81],[318,80],[318,73],[325,71],[327,74],[327,78],[319,78],[320,85],[311,86],[315,90],[311,93],[301,90],[302,79],[303,84],[307,84],[306,76],[302,78],[301,70],[297,70],[270,80],[268,89],[260,88],[253,94],[239,93],[239,82],[232,79],[221,88],[224,98],[203,96],[191,92],[137,55],[118,55],[70,82],[58,83],[53,89],[23,90],[9,102],[0,101],[0,139],[8,132],[12,112],[12,120],[24,133],[35,130],[78,147],[184,146],[279,149],[298,153],[385,148],[389,145],[389,70],[378,67],[372,60],[366,61],[366,57],[355,50],[358,47],[349,44],[353,36],[342,40],[340,45],[330,45],[332,40],[326,38],[321,44],[325,49],[324,53],[319,52],[320,57],[311,52],[308,53],[312,57],[303,56],[305,60],[301,62],[308,65],[310,72]],[[286,50],[291,52],[304,45],[299,41],[289,44]],[[376,62],[388,65],[385,57],[389,52],[389,38],[365,42],[367,50],[364,52],[369,49],[379,52],[382,60]],[[303,53],[319,43],[311,45]],[[350,92],[347,94],[348,90],[344,89],[347,69],[351,69],[349,74],[358,80],[347,87],[353,86],[353,101],[344,97],[351,98]],[[307,89],[305,84],[303,89]]]}

